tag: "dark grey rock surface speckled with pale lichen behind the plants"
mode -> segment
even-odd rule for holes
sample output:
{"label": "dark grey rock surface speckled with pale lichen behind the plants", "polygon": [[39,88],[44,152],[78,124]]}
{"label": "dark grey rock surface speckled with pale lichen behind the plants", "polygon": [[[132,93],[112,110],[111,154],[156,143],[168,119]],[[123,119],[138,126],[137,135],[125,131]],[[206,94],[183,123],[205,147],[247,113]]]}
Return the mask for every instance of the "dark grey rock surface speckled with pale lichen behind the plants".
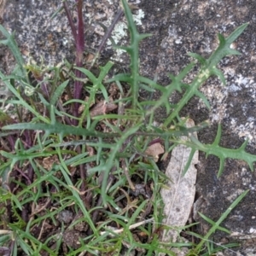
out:
{"label": "dark grey rock surface speckled with pale lichen behind the plants", "polygon": [[[1,3],[5,1],[0,1]],[[72,3],[72,1],[69,1]],[[159,83],[169,82],[167,73],[177,74],[191,61],[187,52],[209,56],[218,46],[218,32],[228,36],[237,26],[249,22],[247,30],[236,40],[234,47],[241,55],[227,57],[219,65],[224,72],[227,85],[224,87],[218,79],[210,79],[203,91],[212,108],[210,111],[197,99],[191,100],[183,115],[188,115],[199,123],[210,119],[210,129],[199,133],[203,143],[211,143],[216,135],[217,123],[221,122],[224,131],[222,145],[238,148],[244,139],[250,139],[247,148],[256,154],[256,2],[251,0],[137,0],[131,1],[138,9],[137,25],[140,32],[150,32],[151,38],[143,41],[141,47],[141,72],[151,79],[157,76]],[[60,7],[61,1],[9,0],[3,10],[2,23],[9,31],[16,31],[20,50],[27,59],[30,55],[39,61],[40,56],[46,64],[56,64],[63,58],[73,60],[73,38],[67,18],[61,14],[50,20],[50,16]],[[84,24],[87,50],[95,52],[104,34],[96,21],[109,26],[119,9],[119,0],[84,1]],[[73,19],[75,12],[73,12]],[[120,21],[113,37],[124,41],[124,20]],[[116,42],[118,43],[118,42]],[[4,49],[4,51],[3,51]],[[102,53],[102,61],[112,57],[117,62],[127,63],[127,56],[118,55],[111,45]],[[1,46],[1,69],[9,72],[14,60]],[[188,78],[191,79],[191,78]],[[147,97],[143,94],[142,97]],[[155,97],[158,95],[156,94]],[[176,98],[170,99],[175,101]],[[165,113],[159,110],[159,121],[165,119]],[[197,191],[205,203],[198,210],[212,220],[217,220],[231,202],[245,189],[251,189],[244,201],[230,213],[224,226],[237,236],[226,236],[217,232],[215,242],[236,241],[241,247],[236,253],[227,250],[224,255],[256,255],[254,249],[256,233],[256,179],[243,162],[229,160],[225,163],[224,174],[217,179],[218,159],[201,154],[198,164]],[[196,218],[196,217],[195,217]],[[201,224],[201,231],[207,229]],[[244,239],[241,239],[244,238]],[[254,243],[253,243],[254,242]]]}

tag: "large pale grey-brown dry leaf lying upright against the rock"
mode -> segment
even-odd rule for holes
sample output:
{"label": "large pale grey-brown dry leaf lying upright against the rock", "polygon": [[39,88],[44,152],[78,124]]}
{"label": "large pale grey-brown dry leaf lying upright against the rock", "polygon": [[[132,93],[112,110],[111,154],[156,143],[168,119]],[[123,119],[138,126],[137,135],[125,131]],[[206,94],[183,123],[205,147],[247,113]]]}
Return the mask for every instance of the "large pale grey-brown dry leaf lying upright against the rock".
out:
{"label": "large pale grey-brown dry leaf lying upright against the rock", "polygon": [[[187,127],[195,126],[192,119],[186,122]],[[196,137],[196,134],[194,134]],[[183,137],[187,139],[187,137]],[[184,166],[189,160],[191,149],[183,145],[178,145],[172,150],[172,158],[166,169],[166,176],[169,181],[166,183],[166,188],[160,190],[163,202],[165,204],[164,214],[166,218],[163,224],[168,227],[173,227],[172,230],[164,231],[162,241],[175,242],[179,236],[179,228],[185,226],[189,219],[191,207],[193,207],[195,199],[195,180],[196,169],[195,164],[198,163],[198,151],[195,152],[188,172],[182,176]],[[175,252],[177,255],[185,255],[184,252]]]}

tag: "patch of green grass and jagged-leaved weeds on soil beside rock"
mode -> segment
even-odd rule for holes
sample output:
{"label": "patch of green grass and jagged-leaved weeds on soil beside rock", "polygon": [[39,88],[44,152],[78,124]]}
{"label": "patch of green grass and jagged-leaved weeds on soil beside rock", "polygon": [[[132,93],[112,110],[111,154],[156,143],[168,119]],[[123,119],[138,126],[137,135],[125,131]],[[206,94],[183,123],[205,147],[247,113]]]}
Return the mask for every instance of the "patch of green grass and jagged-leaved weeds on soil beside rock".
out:
{"label": "patch of green grass and jagged-leaved weeds on soil beside rock", "polygon": [[[204,57],[190,53],[201,68],[191,84],[183,79],[195,62],[174,76],[166,86],[145,78],[139,73],[139,44],[150,34],[140,34],[131,9],[122,0],[130,34],[128,46],[113,45],[125,50],[131,58],[129,73],[118,73],[106,79],[113,67],[93,61],[98,73],[83,63],[84,22],[83,1],[76,1],[78,27],[70,19],[70,10],[63,2],[76,45],[74,65],[63,62],[62,67],[44,67],[24,63],[15,43],[0,25],[5,44],[11,49],[17,67],[9,75],[0,72],[0,79],[9,90],[1,99],[0,110],[0,246],[11,255],[120,255],[137,252],[141,255],[167,253],[170,247],[189,247],[189,255],[212,255],[224,247],[215,247],[210,236],[231,209],[247,194],[242,193],[217,222],[202,216],[212,224],[197,245],[189,243],[164,244],[160,241],[163,229],[160,211],[161,185],[166,177],[154,158],[147,154],[149,145],[162,143],[166,152],[178,144],[218,156],[218,176],[224,170],[224,160],[244,160],[253,170],[256,156],[246,152],[247,142],[240,148],[219,146],[221,126],[212,144],[203,144],[193,137],[194,131],[207,128],[207,121],[186,128],[180,110],[198,96],[210,108],[199,88],[211,76],[224,75],[218,62],[227,55],[239,54],[230,49],[246,29],[241,25],[228,38],[218,35],[219,45],[212,55]],[[122,11],[113,23],[119,20]],[[57,15],[57,14],[55,14]],[[110,37],[111,29],[107,35]],[[103,38],[103,43],[106,42]],[[100,49],[100,50],[101,50]],[[100,50],[96,56],[100,54]],[[160,91],[157,101],[141,101],[139,90]],[[169,102],[175,91],[183,92],[176,105]],[[8,110],[6,105],[11,106]],[[154,125],[157,108],[166,108],[163,125]],[[183,140],[186,136],[189,139]],[[190,162],[183,170],[185,173]],[[206,246],[205,246],[206,244]],[[234,247],[236,244],[225,245]]]}

